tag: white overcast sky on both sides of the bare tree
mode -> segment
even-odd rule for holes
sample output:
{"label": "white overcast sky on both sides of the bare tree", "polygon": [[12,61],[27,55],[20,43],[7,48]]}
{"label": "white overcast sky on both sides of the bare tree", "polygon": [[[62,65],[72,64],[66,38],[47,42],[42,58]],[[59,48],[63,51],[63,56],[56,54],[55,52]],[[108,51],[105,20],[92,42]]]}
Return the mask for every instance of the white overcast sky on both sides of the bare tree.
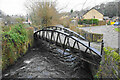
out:
{"label": "white overcast sky on both sides of the bare tree", "polygon": [[[86,1],[86,3],[85,3]],[[106,3],[114,0],[57,0],[57,7],[64,11],[70,11],[71,9],[80,11],[85,3],[84,8],[95,6],[100,3]],[[8,15],[25,15],[27,14],[25,9],[26,0],[0,0],[0,10]]]}

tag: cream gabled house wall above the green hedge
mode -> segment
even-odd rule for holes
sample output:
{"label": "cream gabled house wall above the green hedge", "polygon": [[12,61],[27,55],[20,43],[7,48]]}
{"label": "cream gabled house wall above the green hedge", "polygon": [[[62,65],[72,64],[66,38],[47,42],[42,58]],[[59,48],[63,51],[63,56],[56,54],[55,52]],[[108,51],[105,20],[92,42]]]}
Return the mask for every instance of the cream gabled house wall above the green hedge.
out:
{"label": "cream gabled house wall above the green hedge", "polygon": [[103,20],[103,14],[97,11],[96,9],[90,9],[82,16],[83,19],[98,19]]}

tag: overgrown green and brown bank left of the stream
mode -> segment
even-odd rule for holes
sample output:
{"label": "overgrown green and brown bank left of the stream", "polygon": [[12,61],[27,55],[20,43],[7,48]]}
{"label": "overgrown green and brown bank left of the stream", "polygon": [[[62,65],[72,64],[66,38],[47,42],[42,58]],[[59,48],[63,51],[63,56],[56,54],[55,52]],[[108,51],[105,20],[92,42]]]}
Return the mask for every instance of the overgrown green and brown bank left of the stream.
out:
{"label": "overgrown green and brown bank left of the stream", "polygon": [[26,53],[33,42],[33,28],[24,24],[3,26],[2,29],[2,69],[12,65]]}

